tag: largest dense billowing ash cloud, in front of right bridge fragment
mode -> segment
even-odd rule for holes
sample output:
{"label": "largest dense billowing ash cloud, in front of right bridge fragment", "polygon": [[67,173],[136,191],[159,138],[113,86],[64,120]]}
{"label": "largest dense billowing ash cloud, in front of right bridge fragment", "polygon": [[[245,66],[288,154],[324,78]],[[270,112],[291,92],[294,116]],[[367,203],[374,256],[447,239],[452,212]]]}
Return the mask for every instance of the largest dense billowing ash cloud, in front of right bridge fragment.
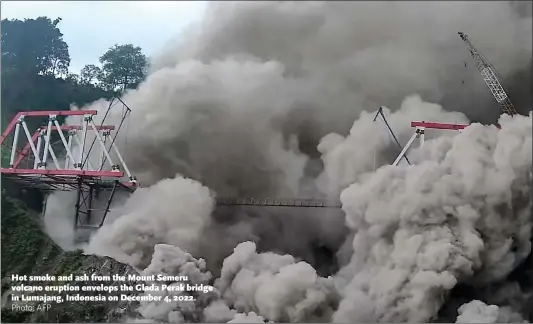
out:
{"label": "largest dense billowing ash cloud, in front of right bridge fragment", "polygon": [[458,281],[502,279],[529,254],[531,115],[500,124],[429,141],[419,164],[342,192],[354,253],[334,321],[428,321]]}

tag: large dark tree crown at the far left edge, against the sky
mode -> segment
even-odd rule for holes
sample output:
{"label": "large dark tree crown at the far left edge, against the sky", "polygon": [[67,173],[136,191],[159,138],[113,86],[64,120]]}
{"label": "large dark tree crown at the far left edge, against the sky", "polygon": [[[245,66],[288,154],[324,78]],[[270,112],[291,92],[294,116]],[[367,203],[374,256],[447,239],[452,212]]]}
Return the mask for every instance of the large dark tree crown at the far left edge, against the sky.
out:
{"label": "large dark tree crown at the far left edge, against the sky", "polygon": [[59,22],[61,18],[3,19],[2,73],[66,75],[70,55]]}

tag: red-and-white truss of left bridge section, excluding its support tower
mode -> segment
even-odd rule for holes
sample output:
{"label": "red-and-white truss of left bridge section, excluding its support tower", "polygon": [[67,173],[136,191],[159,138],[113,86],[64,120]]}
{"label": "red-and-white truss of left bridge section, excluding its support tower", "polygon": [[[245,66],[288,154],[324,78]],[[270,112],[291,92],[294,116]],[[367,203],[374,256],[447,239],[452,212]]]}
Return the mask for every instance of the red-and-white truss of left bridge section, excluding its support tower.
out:
{"label": "red-and-white truss of left bridge section, excluding its support tower", "polygon": [[[130,182],[134,184],[135,178],[131,175],[122,155],[120,154],[117,145],[114,141],[111,142],[110,148],[116,154],[119,164],[115,164],[111,158],[109,148],[106,147],[108,137],[111,137],[111,131],[115,129],[112,125],[97,126],[94,123],[93,116],[97,114],[96,110],[82,110],[82,111],[32,111],[19,112],[11,121],[7,129],[2,134],[0,144],[10,149],[9,168],[2,168],[3,174],[13,175],[33,175],[33,176],[52,176],[52,177],[111,177],[122,178],[124,173],[120,171],[121,166],[125,170]],[[26,123],[27,117],[42,117],[48,116],[48,125],[39,127],[33,135],[30,135],[28,125]],[[83,116],[81,126],[61,126],[57,121],[58,116]],[[18,142],[20,139],[21,129],[26,136],[27,143],[22,150],[18,150]],[[94,131],[96,139],[101,146],[102,164],[94,167],[88,160],[92,153],[92,148],[85,150],[87,133],[91,129]],[[81,130],[82,139],[80,140],[78,132]],[[54,148],[52,147],[51,139],[52,132],[57,131],[63,144],[63,151],[65,152],[65,161],[60,163]],[[68,139],[64,132],[68,132]],[[13,133],[13,144],[11,147],[6,145],[6,139]],[[114,139],[113,139],[114,140]],[[36,142],[37,141],[37,142]],[[78,154],[74,157],[72,151],[72,144],[76,142],[79,146]],[[44,144],[44,147],[43,147]],[[48,157],[52,158],[52,165],[48,161]],[[21,164],[25,158],[30,158],[33,161],[32,168],[22,168]],[[104,170],[105,161],[110,164],[110,170]]]}

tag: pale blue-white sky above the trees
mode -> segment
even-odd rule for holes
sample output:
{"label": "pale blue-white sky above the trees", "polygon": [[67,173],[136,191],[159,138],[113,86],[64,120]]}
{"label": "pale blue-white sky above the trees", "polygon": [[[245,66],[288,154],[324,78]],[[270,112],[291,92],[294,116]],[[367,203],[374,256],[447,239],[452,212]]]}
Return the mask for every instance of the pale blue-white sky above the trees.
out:
{"label": "pale blue-white sky above the trees", "polygon": [[206,1],[2,1],[4,18],[47,16],[69,46],[70,70],[78,73],[115,44],[140,46],[150,56],[183,27],[202,18]]}

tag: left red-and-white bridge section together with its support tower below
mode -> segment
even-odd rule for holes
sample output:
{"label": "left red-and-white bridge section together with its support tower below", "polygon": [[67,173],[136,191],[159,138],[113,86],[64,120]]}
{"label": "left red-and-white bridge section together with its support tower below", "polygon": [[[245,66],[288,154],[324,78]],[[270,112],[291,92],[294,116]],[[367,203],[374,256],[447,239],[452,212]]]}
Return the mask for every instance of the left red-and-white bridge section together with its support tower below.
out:
{"label": "left red-and-white bridge section together with its support tower below", "polygon": [[[120,126],[129,112],[127,108]],[[102,125],[96,125],[97,113],[96,110],[19,112],[0,139],[4,152],[9,151],[9,165],[0,170],[3,177],[44,191],[77,191],[75,227],[101,226],[115,193],[133,192],[137,188],[137,180],[116,145],[120,126],[116,129],[114,125],[104,125],[105,117]],[[60,125],[59,116],[80,116],[82,121],[80,125]],[[39,127],[33,135],[26,122],[32,117],[48,117],[47,125]],[[88,134],[94,137],[89,148]],[[26,143],[18,149],[24,137]],[[52,143],[57,137],[59,140]],[[11,144],[8,138],[12,138]],[[95,152],[95,143],[100,146],[99,152]],[[55,144],[62,146],[54,148]],[[95,208],[94,201],[104,193],[108,194],[107,203]],[[91,216],[97,211],[101,220],[91,225]]]}

